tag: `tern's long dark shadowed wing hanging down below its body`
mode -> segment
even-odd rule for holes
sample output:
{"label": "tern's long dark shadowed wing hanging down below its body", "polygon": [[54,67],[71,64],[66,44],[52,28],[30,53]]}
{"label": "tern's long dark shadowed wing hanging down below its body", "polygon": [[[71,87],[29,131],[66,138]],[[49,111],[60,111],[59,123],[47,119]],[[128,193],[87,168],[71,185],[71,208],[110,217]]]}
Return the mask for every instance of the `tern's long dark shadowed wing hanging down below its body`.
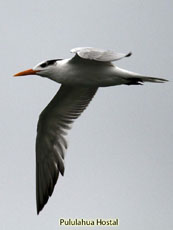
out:
{"label": "tern's long dark shadowed wing hanging down below its body", "polygon": [[97,88],[62,85],[40,114],[36,138],[37,214],[52,195],[59,172],[64,174],[67,131],[87,107],[96,91]]}

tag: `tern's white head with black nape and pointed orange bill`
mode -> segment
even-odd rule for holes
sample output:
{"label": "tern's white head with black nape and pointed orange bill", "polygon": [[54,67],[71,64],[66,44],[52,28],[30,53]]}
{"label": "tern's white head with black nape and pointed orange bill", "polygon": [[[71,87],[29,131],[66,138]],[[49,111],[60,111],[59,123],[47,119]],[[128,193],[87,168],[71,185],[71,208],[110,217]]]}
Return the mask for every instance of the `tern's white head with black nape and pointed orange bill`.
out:
{"label": "tern's white head with black nape and pointed orange bill", "polygon": [[28,69],[19,73],[16,73],[14,77],[18,76],[24,76],[24,75],[40,75],[42,77],[49,77],[51,74],[53,74],[57,69],[57,61],[60,61],[61,59],[54,59],[54,60],[48,60],[43,61],[36,66],[34,66],[32,69]]}

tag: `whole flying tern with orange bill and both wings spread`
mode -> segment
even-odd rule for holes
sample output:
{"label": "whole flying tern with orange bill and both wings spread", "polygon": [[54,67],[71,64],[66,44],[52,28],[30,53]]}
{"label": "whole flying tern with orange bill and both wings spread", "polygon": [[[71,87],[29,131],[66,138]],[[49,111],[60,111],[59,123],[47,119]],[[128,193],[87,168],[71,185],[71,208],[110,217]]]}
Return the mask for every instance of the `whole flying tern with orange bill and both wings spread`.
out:
{"label": "whole flying tern with orange bill and both wings spread", "polygon": [[39,63],[14,76],[39,75],[61,84],[51,102],[41,112],[36,137],[37,214],[52,195],[59,173],[64,175],[66,135],[72,123],[88,106],[99,87],[163,83],[166,79],[143,76],[113,65],[131,56],[111,50],[80,47],[74,57]]}

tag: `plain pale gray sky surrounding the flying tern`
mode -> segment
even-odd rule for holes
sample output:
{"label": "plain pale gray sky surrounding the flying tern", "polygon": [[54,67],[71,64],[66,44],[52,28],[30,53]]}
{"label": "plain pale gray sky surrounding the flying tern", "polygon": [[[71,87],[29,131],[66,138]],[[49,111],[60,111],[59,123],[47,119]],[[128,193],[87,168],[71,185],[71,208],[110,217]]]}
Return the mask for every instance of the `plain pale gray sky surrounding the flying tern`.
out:
{"label": "plain pale gray sky surrounding the flying tern", "polygon": [[[172,9],[172,0],[1,0],[1,229],[57,229],[61,217],[173,229]],[[69,133],[65,176],[37,216],[36,125],[59,85],[12,74],[70,57],[76,46],[132,51],[116,64],[170,82],[98,91]]]}

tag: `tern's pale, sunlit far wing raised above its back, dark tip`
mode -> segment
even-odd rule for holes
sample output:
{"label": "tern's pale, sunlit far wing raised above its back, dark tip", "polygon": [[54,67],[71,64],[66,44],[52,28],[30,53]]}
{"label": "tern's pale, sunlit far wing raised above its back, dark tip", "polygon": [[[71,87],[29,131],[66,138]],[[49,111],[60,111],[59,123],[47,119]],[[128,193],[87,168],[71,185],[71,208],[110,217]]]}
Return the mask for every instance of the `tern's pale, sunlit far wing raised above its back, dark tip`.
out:
{"label": "tern's pale, sunlit far wing raised above its back, dark tip", "polygon": [[131,56],[131,52],[128,54],[116,53],[111,50],[102,50],[92,47],[79,47],[71,50],[72,53],[76,53],[79,57],[83,59],[89,59],[100,62],[111,62],[117,61],[124,57]]}

